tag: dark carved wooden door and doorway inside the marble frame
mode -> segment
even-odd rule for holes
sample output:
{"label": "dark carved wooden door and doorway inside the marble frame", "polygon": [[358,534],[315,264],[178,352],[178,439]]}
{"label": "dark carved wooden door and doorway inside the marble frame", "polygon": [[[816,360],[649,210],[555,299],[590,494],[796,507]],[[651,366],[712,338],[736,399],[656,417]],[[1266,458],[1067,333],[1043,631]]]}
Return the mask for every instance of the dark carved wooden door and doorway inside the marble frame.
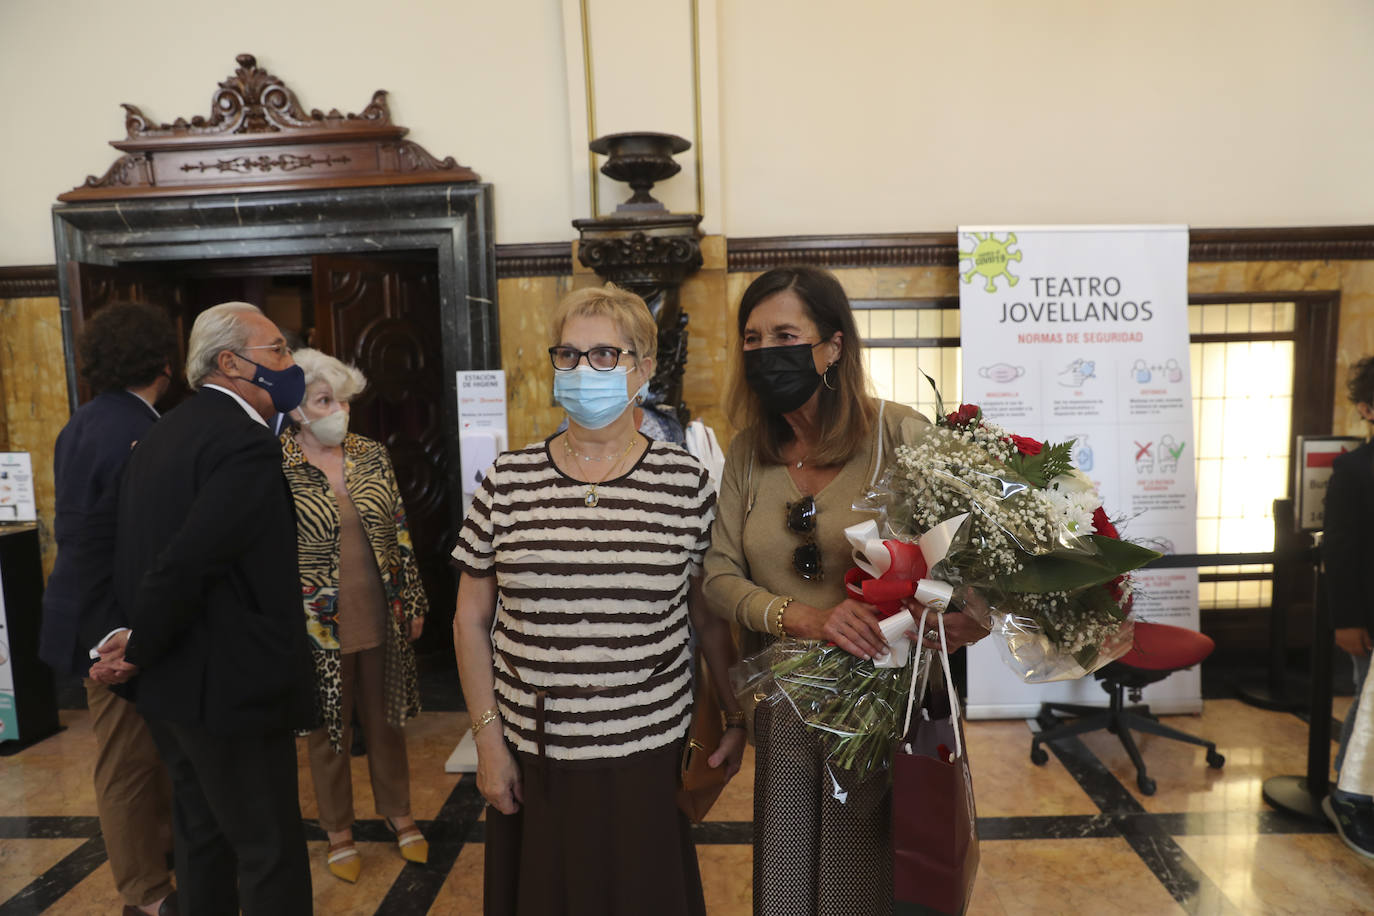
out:
{"label": "dark carved wooden door and doorway inside the marble frame", "polygon": [[[455,597],[448,564],[456,538],[451,509],[462,497],[448,493],[447,485],[447,396],[434,257],[328,254],[121,266],[70,262],[70,271],[73,336],[85,319],[110,302],[140,301],[168,310],[179,331],[180,364],[173,367],[173,386],[162,408],[188,396],[184,357],[196,314],[229,299],[258,305],[289,338],[294,335],[294,342],[363,371],[367,389],[353,401],[349,428],[385,444],[392,455],[431,606],[419,648],[447,651]],[[81,383],[77,400],[89,396]]]}

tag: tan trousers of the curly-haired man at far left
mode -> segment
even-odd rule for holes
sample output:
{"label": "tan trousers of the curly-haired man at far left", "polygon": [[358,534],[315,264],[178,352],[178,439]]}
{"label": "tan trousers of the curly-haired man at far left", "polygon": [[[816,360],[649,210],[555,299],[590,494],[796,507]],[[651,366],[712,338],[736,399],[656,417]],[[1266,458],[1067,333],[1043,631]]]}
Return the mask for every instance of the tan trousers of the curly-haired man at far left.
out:
{"label": "tan trousers of the curly-haired man at far left", "polygon": [[95,803],[114,886],[131,906],[172,893],[172,783],[148,724],[129,700],[85,680],[95,731]]}

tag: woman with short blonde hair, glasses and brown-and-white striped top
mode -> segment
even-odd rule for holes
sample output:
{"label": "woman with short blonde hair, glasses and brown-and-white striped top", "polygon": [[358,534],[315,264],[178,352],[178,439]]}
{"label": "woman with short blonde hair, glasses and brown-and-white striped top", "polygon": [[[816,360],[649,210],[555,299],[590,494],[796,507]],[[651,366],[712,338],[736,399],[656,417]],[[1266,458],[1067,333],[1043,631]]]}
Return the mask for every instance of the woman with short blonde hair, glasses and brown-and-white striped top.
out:
{"label": "woman with short blonde hair, glasses and brown-and-white striped top", "polygon": [[716,494],[680,446],[635,430],[657,325],[616,287],[554,317],[569,426],[486,471],[453,559],[453,643],[486,813],[486,913],[705,913],[676,808],[691,717],[688,621],[731,728],[730,629],[705,607]]}

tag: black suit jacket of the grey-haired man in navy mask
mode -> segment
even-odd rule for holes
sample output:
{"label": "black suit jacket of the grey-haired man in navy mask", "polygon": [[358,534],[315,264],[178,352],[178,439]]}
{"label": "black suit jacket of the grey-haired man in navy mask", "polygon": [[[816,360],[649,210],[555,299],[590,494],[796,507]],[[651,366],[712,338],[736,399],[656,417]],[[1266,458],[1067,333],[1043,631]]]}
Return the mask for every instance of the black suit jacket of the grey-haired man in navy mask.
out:
{"label": "black suit jacket of the grey-haired man in navy mask", "polygon": [[313,724],[282,449],[234,398],[201,391],[133,449],[115,552],[146,718],[221,735]]}

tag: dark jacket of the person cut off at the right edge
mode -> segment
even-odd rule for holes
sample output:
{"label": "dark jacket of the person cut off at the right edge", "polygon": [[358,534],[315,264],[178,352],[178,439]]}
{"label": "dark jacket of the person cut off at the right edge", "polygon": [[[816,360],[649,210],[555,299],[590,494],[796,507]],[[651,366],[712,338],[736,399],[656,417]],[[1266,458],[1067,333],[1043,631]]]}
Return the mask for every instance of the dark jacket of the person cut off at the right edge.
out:
{"label": "dark jacket of the person cut off at the right edge", "polygon": [[1331,464],[1326,486],[1322,559],[1326,597],[1337,629],[1363,626],[1374,633],[1374,442]]}

